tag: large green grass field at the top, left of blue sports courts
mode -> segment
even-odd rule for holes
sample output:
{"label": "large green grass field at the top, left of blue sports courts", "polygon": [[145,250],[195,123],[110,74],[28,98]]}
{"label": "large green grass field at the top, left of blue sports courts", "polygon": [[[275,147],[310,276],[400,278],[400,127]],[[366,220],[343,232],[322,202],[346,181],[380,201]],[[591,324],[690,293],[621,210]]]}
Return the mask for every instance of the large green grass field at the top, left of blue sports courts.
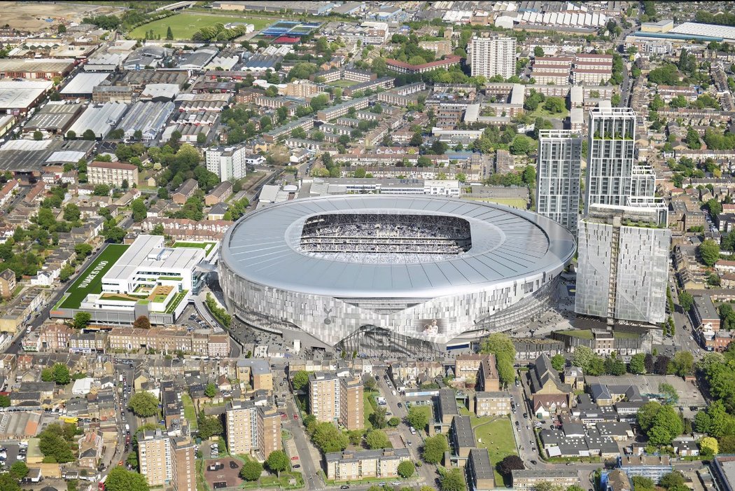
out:
{"label": "large green grass field at the top, left of blue sports courts", "polygon": [[174,39],[191,39],[192,35],[202,27],[214,26],[215,24],[229,24],[231,22],[245,22],[253,24],[255,30],[259,31],[278,19],[275,18],[247,18],[241,15],[204,15],[198,13],[183,13],[171,15],[171,17],[162,18],[158,21],[149,22],[142,26],[137,26],[129,33],[129,37],[133,39],[143,39],[146,32],[153,29],[155,35],[160,35],[161,39],[166,38],[166,31],[171,26],[171,32]]}

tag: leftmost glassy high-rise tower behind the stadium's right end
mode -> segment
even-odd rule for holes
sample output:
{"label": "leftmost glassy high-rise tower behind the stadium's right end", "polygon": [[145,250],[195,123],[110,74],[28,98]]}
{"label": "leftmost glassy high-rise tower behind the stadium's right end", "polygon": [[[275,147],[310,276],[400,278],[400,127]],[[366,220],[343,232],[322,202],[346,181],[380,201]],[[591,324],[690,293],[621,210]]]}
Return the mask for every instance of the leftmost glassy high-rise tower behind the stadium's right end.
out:
{"label": "leftmost glassy high-rise tower behind the stadium's right end", "polygon": [[582,138],[568,129],[539,132],[536,209],[576,234],[579,220],[579,179]]}

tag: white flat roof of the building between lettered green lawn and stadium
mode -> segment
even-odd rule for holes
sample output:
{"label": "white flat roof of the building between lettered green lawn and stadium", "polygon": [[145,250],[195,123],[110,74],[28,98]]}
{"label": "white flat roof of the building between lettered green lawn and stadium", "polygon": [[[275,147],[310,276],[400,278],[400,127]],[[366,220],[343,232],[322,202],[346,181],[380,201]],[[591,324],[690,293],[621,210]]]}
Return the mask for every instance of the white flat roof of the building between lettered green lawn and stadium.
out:
{"label": "white flat roof of the building between lettered green lawn and stadium", "polygon": [[191,271],[206,255],[201,248],[164,247],[163,241],[162,235],[139,235],[105,273],[103,281],[127,280],[141,268]]}

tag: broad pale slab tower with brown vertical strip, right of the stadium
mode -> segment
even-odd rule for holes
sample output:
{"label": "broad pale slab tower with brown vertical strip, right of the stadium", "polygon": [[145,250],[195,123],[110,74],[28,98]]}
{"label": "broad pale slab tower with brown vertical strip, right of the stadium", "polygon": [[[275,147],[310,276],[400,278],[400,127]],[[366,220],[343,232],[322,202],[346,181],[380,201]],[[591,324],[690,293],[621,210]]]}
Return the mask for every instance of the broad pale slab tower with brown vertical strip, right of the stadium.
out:
{"label": "broad pale slab tower with brown vertical strip, right of the stadium", "polygon": [[666,205],[631,204],[592,204],[579,221],[574,310],[609,320],[661,323],[671,243]]}

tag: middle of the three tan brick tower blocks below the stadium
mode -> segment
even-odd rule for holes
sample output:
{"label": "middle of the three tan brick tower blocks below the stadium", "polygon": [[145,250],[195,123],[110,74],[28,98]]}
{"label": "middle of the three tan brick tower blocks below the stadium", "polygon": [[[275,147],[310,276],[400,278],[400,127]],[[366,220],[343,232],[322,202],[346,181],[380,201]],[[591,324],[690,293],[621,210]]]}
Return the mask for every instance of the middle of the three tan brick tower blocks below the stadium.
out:
{"label": "middle of the three tan brick tower blocks below the stadium", "polygon": [[225,414],[231,454],[254,455],[264,460],[273,450],[280,450],[281,416],[273,406],[232,401],[227,404]]}

